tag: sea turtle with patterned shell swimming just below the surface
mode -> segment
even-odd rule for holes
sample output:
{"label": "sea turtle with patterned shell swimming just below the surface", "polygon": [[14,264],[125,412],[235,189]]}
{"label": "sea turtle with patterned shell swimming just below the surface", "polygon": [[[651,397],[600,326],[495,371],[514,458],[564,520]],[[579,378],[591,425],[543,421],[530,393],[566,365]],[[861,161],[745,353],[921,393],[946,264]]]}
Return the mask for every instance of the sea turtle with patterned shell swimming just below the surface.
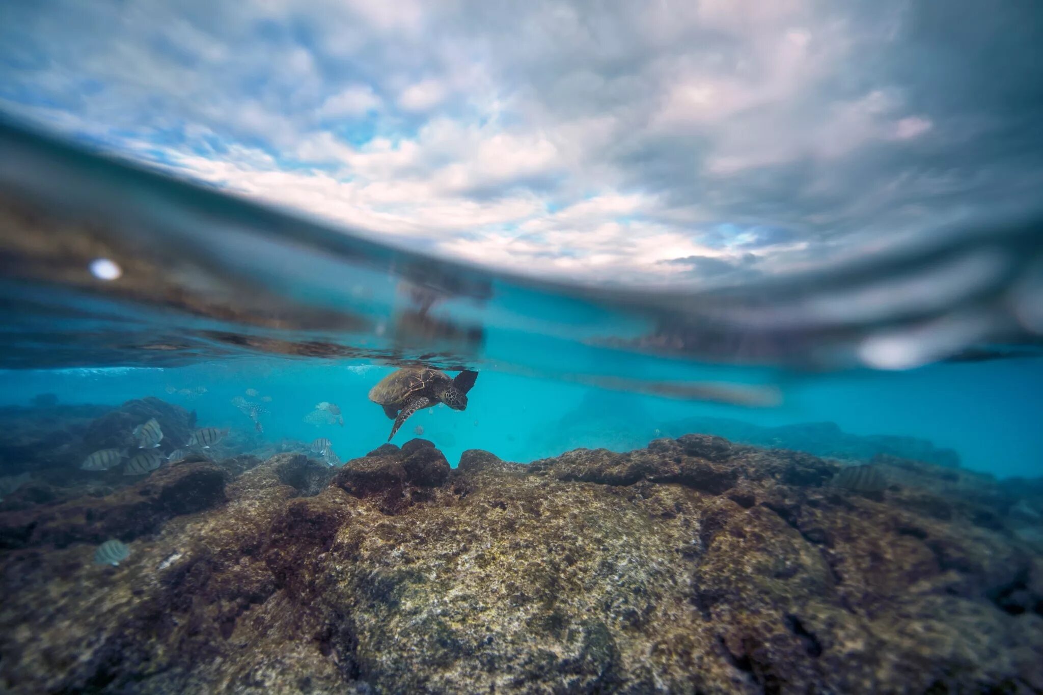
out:
{"label": "sea turtle with patterned shell swimming just below the surface", "polygon": [[437,369],[403,367],[385,376],[369,390],[369,400],[384,406],[384,413],[394,420],[388,441],[406,422],[406,418],[422,407],[445,403],[454,411],[467,407],[467,392],[475,386],[478,372],[463,371],[450,378]]}

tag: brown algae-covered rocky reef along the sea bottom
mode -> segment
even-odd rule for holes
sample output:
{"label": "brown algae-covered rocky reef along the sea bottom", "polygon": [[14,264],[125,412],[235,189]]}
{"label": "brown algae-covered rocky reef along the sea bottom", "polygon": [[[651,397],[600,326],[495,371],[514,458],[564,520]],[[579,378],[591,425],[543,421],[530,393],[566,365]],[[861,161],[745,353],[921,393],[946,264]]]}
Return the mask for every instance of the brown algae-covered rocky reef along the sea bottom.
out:
{"label": "brown algae-covered rocky reef along the sea bottom", "polygon": [[[77,467],[149,418],[164,453],[198,426],[154,398],[4,415],[0,691],[1043,691],[1043,478],[877,454],[846,485],[684,423],[529,465],[233,431]],[[110,539],[129,556],[95,564]]]}

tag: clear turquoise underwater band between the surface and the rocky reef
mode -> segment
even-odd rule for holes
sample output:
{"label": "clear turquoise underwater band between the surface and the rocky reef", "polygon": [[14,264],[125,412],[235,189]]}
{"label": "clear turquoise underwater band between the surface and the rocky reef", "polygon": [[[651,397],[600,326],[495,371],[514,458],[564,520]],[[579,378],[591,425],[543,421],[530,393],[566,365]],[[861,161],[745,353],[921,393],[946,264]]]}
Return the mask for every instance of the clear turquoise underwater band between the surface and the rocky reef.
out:
{"label": "clear turquoise underwater band between the surface and the rocky reef", "polygon": [[[664,363],[663,370],[678,368]],[[0,374],[0,405],[24,405],[41,393],[60,402],[119,404],[155,396],[194,409],[205,425],[249,431],[252,423],[231,400],[256,389],[270,415],[264,433],[310,442],[329,438],[342,460],[382,444],[390,421],[366,395],[391,367],[361,361],[236,359],[181,368],[19,370]],[[167,387],[205,387],[200,395],[167,393]],[[1043,471],[1043,364],[1022,358],[944,364],[900,373],[857,372],[799,377],[774,407],[751,408],[690,402],[593,389],[550,378],[485,369],[467,409],[436,407],[410,418],[393,442],[433,441],[455,465],[465,449],[486,449],[509,461],[530,462],[576,447],[628,450],[645,446],[671,423],[694,417],[741,420],[765,426],[830,421],[854,435],[898,435],[954,449],[967,468],[997,476]],[[344,425],[304,421],[320,401],[340,406]],[[260,402],[260,401],[259,401]]]}

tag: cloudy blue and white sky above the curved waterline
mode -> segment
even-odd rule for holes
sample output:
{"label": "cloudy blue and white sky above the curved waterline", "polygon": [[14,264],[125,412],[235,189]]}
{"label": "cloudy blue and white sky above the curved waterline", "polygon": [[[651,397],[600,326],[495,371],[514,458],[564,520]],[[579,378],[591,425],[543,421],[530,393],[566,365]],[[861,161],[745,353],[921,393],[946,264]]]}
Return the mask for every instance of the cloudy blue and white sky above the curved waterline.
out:
{"label": "cloudy blue and white sky above the curved waterline", "polygon": [[0,3],[0,110],[396,245],[729,283],[1043,189],[1035,0]]}

